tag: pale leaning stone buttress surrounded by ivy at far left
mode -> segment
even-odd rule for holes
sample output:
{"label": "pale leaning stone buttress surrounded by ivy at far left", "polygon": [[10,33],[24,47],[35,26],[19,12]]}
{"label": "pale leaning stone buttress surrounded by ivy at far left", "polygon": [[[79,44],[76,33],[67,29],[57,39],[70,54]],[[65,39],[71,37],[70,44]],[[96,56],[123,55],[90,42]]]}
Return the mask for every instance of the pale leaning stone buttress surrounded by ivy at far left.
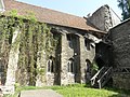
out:
{"label": "pale leaning stone buttress surrounded by ivy at far left", "polygon": [[20,53],[20,43],[16,43],[17,42],[16,40],[20,33],[21,33],[20,29],[16,29],[13,32],[12,46],[9,55],[9,64],[8,64],[6,81],[5,81],[5,85],[8,86],[15,84],[15,71],[17,69],[18,53]]}

